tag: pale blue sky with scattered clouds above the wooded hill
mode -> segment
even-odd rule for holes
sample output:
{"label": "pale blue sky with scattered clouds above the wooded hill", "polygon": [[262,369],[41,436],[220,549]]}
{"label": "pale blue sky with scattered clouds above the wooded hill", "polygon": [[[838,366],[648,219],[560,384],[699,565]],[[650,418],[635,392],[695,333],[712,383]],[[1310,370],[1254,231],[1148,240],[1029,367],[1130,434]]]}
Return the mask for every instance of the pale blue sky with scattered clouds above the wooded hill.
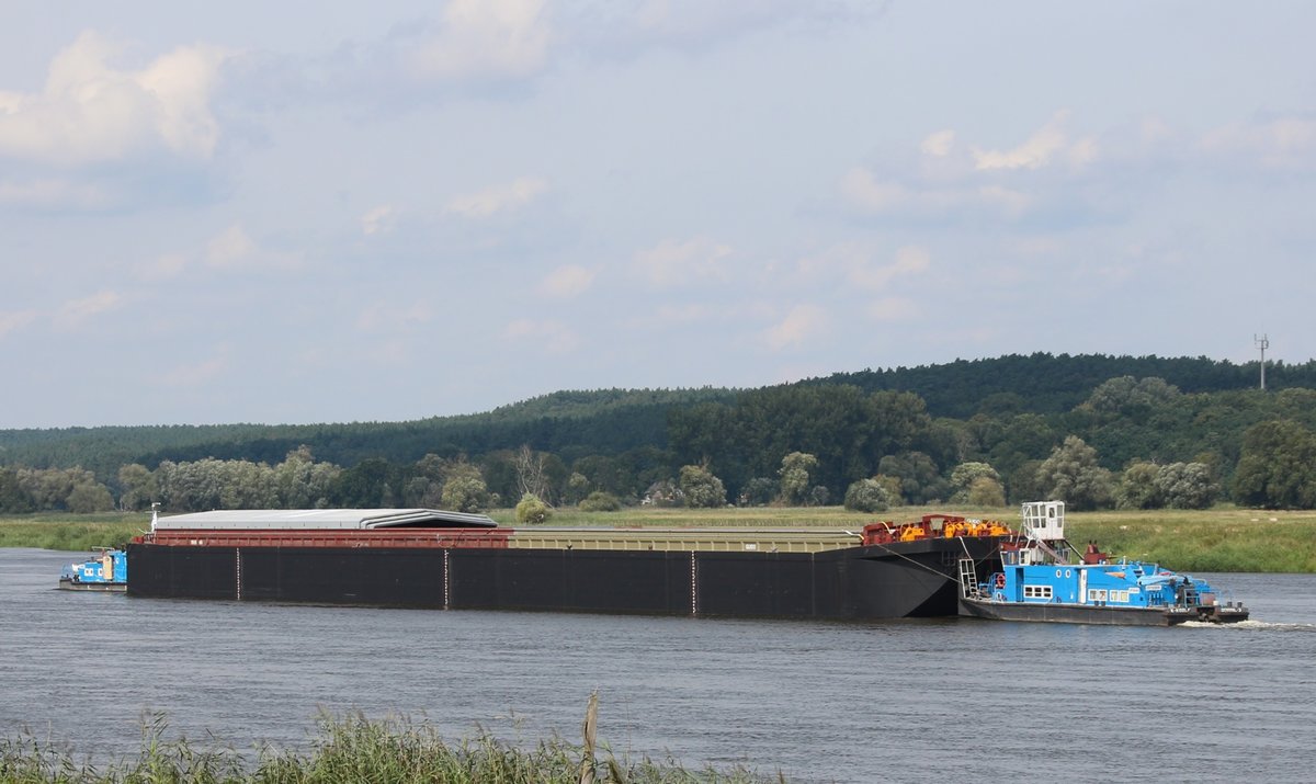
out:
{"label": "pale blue sky with scattered clouds above the wooded hill", "polygon": [[1312,3],[0,20],[0,428],[1316,356]]}

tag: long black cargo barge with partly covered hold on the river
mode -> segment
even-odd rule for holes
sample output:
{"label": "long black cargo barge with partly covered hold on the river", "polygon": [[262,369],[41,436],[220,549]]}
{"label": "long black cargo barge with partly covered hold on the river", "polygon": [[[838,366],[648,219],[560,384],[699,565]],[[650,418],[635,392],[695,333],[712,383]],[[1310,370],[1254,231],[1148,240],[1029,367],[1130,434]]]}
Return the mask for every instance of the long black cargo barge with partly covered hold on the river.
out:
{"label": "long black cargo barge with partly covered hold on the river", "polygon": [[929,514],[828,529],[501,527],[433,509],[241,510],[153,520],[129,596],[783,618],[958,612],[962,562],[1011,531]]}

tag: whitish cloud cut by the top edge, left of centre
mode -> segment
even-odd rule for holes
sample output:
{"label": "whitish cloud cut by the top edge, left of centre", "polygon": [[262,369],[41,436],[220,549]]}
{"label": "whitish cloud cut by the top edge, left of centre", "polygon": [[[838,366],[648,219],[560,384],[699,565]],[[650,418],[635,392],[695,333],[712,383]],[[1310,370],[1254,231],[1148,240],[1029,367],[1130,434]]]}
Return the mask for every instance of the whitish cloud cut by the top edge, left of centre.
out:
{"label": "whitish cloud cut by the top edge, left of centre", "polygon": [[450,0],[440,29],[411,53],[426,79],[524,78],[538,72],[553,34],[545,0]]}

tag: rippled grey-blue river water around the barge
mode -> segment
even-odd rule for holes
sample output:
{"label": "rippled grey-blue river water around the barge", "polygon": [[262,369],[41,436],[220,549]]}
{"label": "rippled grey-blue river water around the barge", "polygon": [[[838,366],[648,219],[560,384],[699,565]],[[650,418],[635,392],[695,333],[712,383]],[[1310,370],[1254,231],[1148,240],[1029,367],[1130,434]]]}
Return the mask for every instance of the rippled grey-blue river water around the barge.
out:
{"label": "rippled grey-blue river water around the barge", "polygon": [[1229,627],[821,624],[130,599],[0,550],[0,734],[301,747],[317,712],[576,739],[796,781],[1309,781],[1316,575],[1203,575]]}

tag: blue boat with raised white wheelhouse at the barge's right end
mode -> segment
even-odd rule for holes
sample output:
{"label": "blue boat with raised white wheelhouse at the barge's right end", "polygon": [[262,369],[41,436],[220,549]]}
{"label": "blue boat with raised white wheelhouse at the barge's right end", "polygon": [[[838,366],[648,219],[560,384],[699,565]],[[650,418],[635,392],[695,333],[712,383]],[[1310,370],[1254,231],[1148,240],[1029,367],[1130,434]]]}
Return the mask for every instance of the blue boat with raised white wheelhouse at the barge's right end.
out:
{"label": "blue boat with raised white wheelhouse at the barge's right end", "polygon": [[1024,504],[1020,537],[1000,545],[1000,564],[979,581],[974,564],[961,560],[961,616],[1126,626],[1236,624],[1249,616],[1242,602],[1223,602],[1203,579],[1112,559],[1095,543],[1075,556],[1065,539],[1063,501]]}

